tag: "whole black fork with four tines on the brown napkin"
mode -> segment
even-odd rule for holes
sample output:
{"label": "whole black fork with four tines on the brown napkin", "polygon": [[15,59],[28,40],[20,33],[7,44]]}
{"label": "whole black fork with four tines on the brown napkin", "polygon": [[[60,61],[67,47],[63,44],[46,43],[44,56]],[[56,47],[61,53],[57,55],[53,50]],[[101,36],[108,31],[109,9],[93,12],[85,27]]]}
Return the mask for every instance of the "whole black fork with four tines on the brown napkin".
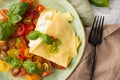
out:
{"label": "whole black fork with four tines on the brown napkin", "polygon": [[93,80],[96,64],[96,47],[102,43],[104,16],[95,16],[88,42],[94,46],[91,59],[90,80]]}

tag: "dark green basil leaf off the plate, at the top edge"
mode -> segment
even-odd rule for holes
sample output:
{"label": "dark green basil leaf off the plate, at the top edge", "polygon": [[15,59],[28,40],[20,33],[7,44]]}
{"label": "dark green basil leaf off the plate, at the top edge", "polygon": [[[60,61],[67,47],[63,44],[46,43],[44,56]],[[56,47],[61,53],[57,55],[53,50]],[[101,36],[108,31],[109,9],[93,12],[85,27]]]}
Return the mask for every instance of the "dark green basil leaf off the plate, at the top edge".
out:
{"label": "dark green basil leaf off the plate, at the top edge", "polygon": [[91,4],[98,7],[108,7],[110,5],[109,0],[89,0]]}

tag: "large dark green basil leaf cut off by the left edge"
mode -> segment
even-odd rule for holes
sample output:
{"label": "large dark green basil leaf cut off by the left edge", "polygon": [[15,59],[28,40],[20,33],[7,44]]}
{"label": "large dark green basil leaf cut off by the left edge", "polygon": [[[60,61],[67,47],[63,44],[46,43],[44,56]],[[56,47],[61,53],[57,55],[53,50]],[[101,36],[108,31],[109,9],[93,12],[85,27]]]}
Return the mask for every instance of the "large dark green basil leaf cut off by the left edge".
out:
{"label": "large dark green basil leaf cut off by the left edge", "polygon": [[10,22],[0,23],[0,40],[7,40],[15,31],[14,25]]}

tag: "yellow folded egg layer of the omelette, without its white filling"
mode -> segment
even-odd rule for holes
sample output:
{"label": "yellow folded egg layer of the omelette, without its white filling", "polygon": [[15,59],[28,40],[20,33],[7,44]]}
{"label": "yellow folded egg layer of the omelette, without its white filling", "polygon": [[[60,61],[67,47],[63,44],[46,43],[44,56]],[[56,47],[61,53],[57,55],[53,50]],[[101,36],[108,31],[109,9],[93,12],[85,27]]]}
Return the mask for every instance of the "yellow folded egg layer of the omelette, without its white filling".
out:
{"label": "yellow folded egg layer of the omelette, without its white filling", "polygon": [[[67,68],[72,58],[77,56],[77,48],[80,40],[65,15],[60,12],[54,14],[48,28],[44,32],[61,41],[61,44],[58,46],[58,51],[56,53],[50,53],[47,50],[48,44],[42,40],[39,40],[34,46],[30,47],[30,51],[35,55]],[[37,23],[36,30],[38,27],[41,27],[39,23]]]}

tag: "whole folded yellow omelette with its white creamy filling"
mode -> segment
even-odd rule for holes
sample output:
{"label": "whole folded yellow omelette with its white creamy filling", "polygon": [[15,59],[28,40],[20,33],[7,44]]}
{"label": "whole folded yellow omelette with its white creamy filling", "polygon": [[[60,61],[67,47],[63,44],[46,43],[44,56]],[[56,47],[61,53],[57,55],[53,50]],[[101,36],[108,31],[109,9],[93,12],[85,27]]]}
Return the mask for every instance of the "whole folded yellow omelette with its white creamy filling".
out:
{"label": "whole folded yellow omelette with its white creamy filling", "polygon": [[57,47],[57,52],[50,53],[48,51],[50,45],[41,38],[30,40],[30,52],[67,68],[72,58],[77,56],[77,49],[80,45],[80,39],[70,24],[72,20],[70,13],[61,13],[54,9],[43,11],[35,30],[59,39],[61,44]]}

